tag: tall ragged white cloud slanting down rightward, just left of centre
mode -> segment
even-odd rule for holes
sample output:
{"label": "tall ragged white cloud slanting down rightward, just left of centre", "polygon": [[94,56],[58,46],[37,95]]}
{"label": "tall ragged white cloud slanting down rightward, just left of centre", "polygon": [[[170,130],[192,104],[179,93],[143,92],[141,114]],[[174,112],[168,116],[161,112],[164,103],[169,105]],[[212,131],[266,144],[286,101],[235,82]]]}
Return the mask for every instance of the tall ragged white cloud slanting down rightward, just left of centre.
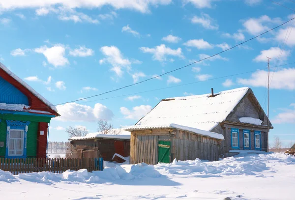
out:
{"label": "tall ragged white cloud slanting down rightward, just left of centre", "polygon": [[120,50],[116,46],[104,46],[100,48],[100,51],[105,58],[100,59],[99,63],[109,63],[112,65],[111,71],[114,71],[117,76],[121,77],[123,74],[122,68],[130,68],[131,61],[128,58],[124,58]]}

